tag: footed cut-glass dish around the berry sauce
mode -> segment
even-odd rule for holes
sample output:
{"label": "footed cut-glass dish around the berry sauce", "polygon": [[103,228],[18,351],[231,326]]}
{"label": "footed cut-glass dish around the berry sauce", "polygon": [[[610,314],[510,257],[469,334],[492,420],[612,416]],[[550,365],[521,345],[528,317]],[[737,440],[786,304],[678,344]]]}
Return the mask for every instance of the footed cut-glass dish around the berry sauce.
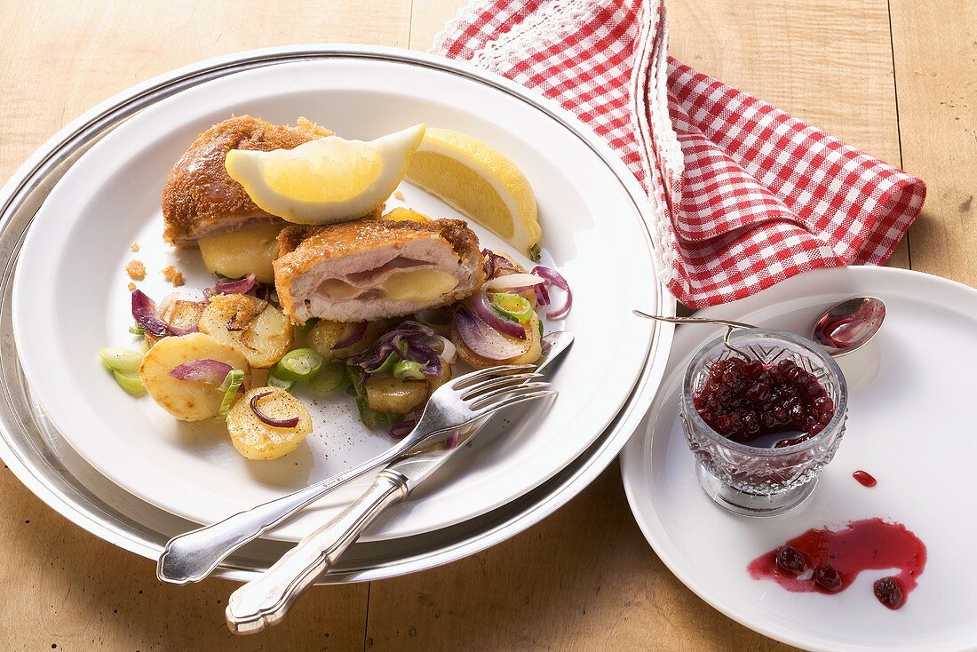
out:
{"label": "footed cut-glass dish around the berry sauce", "polygon": [[[689,448],[698,462],[699,481],[712,500],[748,516],[772,516],[792,509],[814,491],[818,475],[834,456],[845,431],[848,388],[837,364],[817,344],[793,333],[770,328],[737,330],[705,344],[686,369],[681,419]],[[735,349],[735,350],[734,350]],[[734,442],[702,420],[693,404],[709,369],[730,357],[764,366],[789,360],[813,374],[827,390],[834,415],[820,432],[783,448],[760,448]]]}

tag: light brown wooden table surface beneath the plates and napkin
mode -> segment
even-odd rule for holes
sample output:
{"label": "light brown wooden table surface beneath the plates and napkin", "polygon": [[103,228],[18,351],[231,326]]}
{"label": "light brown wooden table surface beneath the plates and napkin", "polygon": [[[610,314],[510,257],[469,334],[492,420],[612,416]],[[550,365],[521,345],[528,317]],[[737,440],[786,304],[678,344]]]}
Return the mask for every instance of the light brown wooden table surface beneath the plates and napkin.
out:
{"label": "light brown wooden table surface beneath the plates and napkin", "polygon": [[[0,0],[0,177],[106,97],[252,48],[425,50],[464,0]],[[921,177],[892,264],[977,284],[977,2],[670,0],[681,61]],[[970,105],[974,105],[971,107]],[[4,650],[779,650],[683,587],[628,510],[613,464],[556,514],[442,568],[318,587],[283,625],[235,638],[218,580],[161,586],[153,563],[64,520],[0,471]]]}

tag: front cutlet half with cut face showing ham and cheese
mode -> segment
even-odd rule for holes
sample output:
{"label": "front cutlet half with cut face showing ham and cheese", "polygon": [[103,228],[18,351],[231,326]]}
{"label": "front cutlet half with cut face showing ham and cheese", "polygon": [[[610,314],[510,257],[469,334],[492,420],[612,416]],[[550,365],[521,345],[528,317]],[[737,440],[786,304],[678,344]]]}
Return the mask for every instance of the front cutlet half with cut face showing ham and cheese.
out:
{"label": "front cutlet half with cut face showing ham and cheese", "polygon": [[357,220],[278,235],[275,285],[296,324],[365,322],[440,308],[485,281],[479,239],[461,220]]}

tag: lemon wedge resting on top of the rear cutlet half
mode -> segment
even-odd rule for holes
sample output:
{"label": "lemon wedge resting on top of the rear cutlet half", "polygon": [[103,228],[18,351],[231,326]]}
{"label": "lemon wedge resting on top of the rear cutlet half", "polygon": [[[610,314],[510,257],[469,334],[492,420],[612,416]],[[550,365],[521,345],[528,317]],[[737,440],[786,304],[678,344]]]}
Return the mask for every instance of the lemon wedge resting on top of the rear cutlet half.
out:
{"label": "lemon wedge resting on top of the rear cutlet half", "polygon": [[369,142],[328,136],[292,150],[232,150],[224,164],[263,210],[296,224],[331,224],[383,203],[423,138],[418,124]]}

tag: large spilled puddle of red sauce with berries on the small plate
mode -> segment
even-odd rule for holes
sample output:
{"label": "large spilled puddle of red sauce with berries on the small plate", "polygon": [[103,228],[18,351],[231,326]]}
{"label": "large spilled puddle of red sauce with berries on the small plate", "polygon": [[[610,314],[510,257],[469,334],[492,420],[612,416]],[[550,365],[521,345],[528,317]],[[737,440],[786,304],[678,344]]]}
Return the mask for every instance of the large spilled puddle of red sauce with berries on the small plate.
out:
{"label": "large spilled puddle of red sauce with berries on the small plate", "polygon": [[793,592],[837,593],[862,571],[899,569],[877,580],[875,597],[898,609],[926,567],[926,545],[901,523],[853,521],[843,530],[811,529],[749,562],[754,580],[773,580]]}

